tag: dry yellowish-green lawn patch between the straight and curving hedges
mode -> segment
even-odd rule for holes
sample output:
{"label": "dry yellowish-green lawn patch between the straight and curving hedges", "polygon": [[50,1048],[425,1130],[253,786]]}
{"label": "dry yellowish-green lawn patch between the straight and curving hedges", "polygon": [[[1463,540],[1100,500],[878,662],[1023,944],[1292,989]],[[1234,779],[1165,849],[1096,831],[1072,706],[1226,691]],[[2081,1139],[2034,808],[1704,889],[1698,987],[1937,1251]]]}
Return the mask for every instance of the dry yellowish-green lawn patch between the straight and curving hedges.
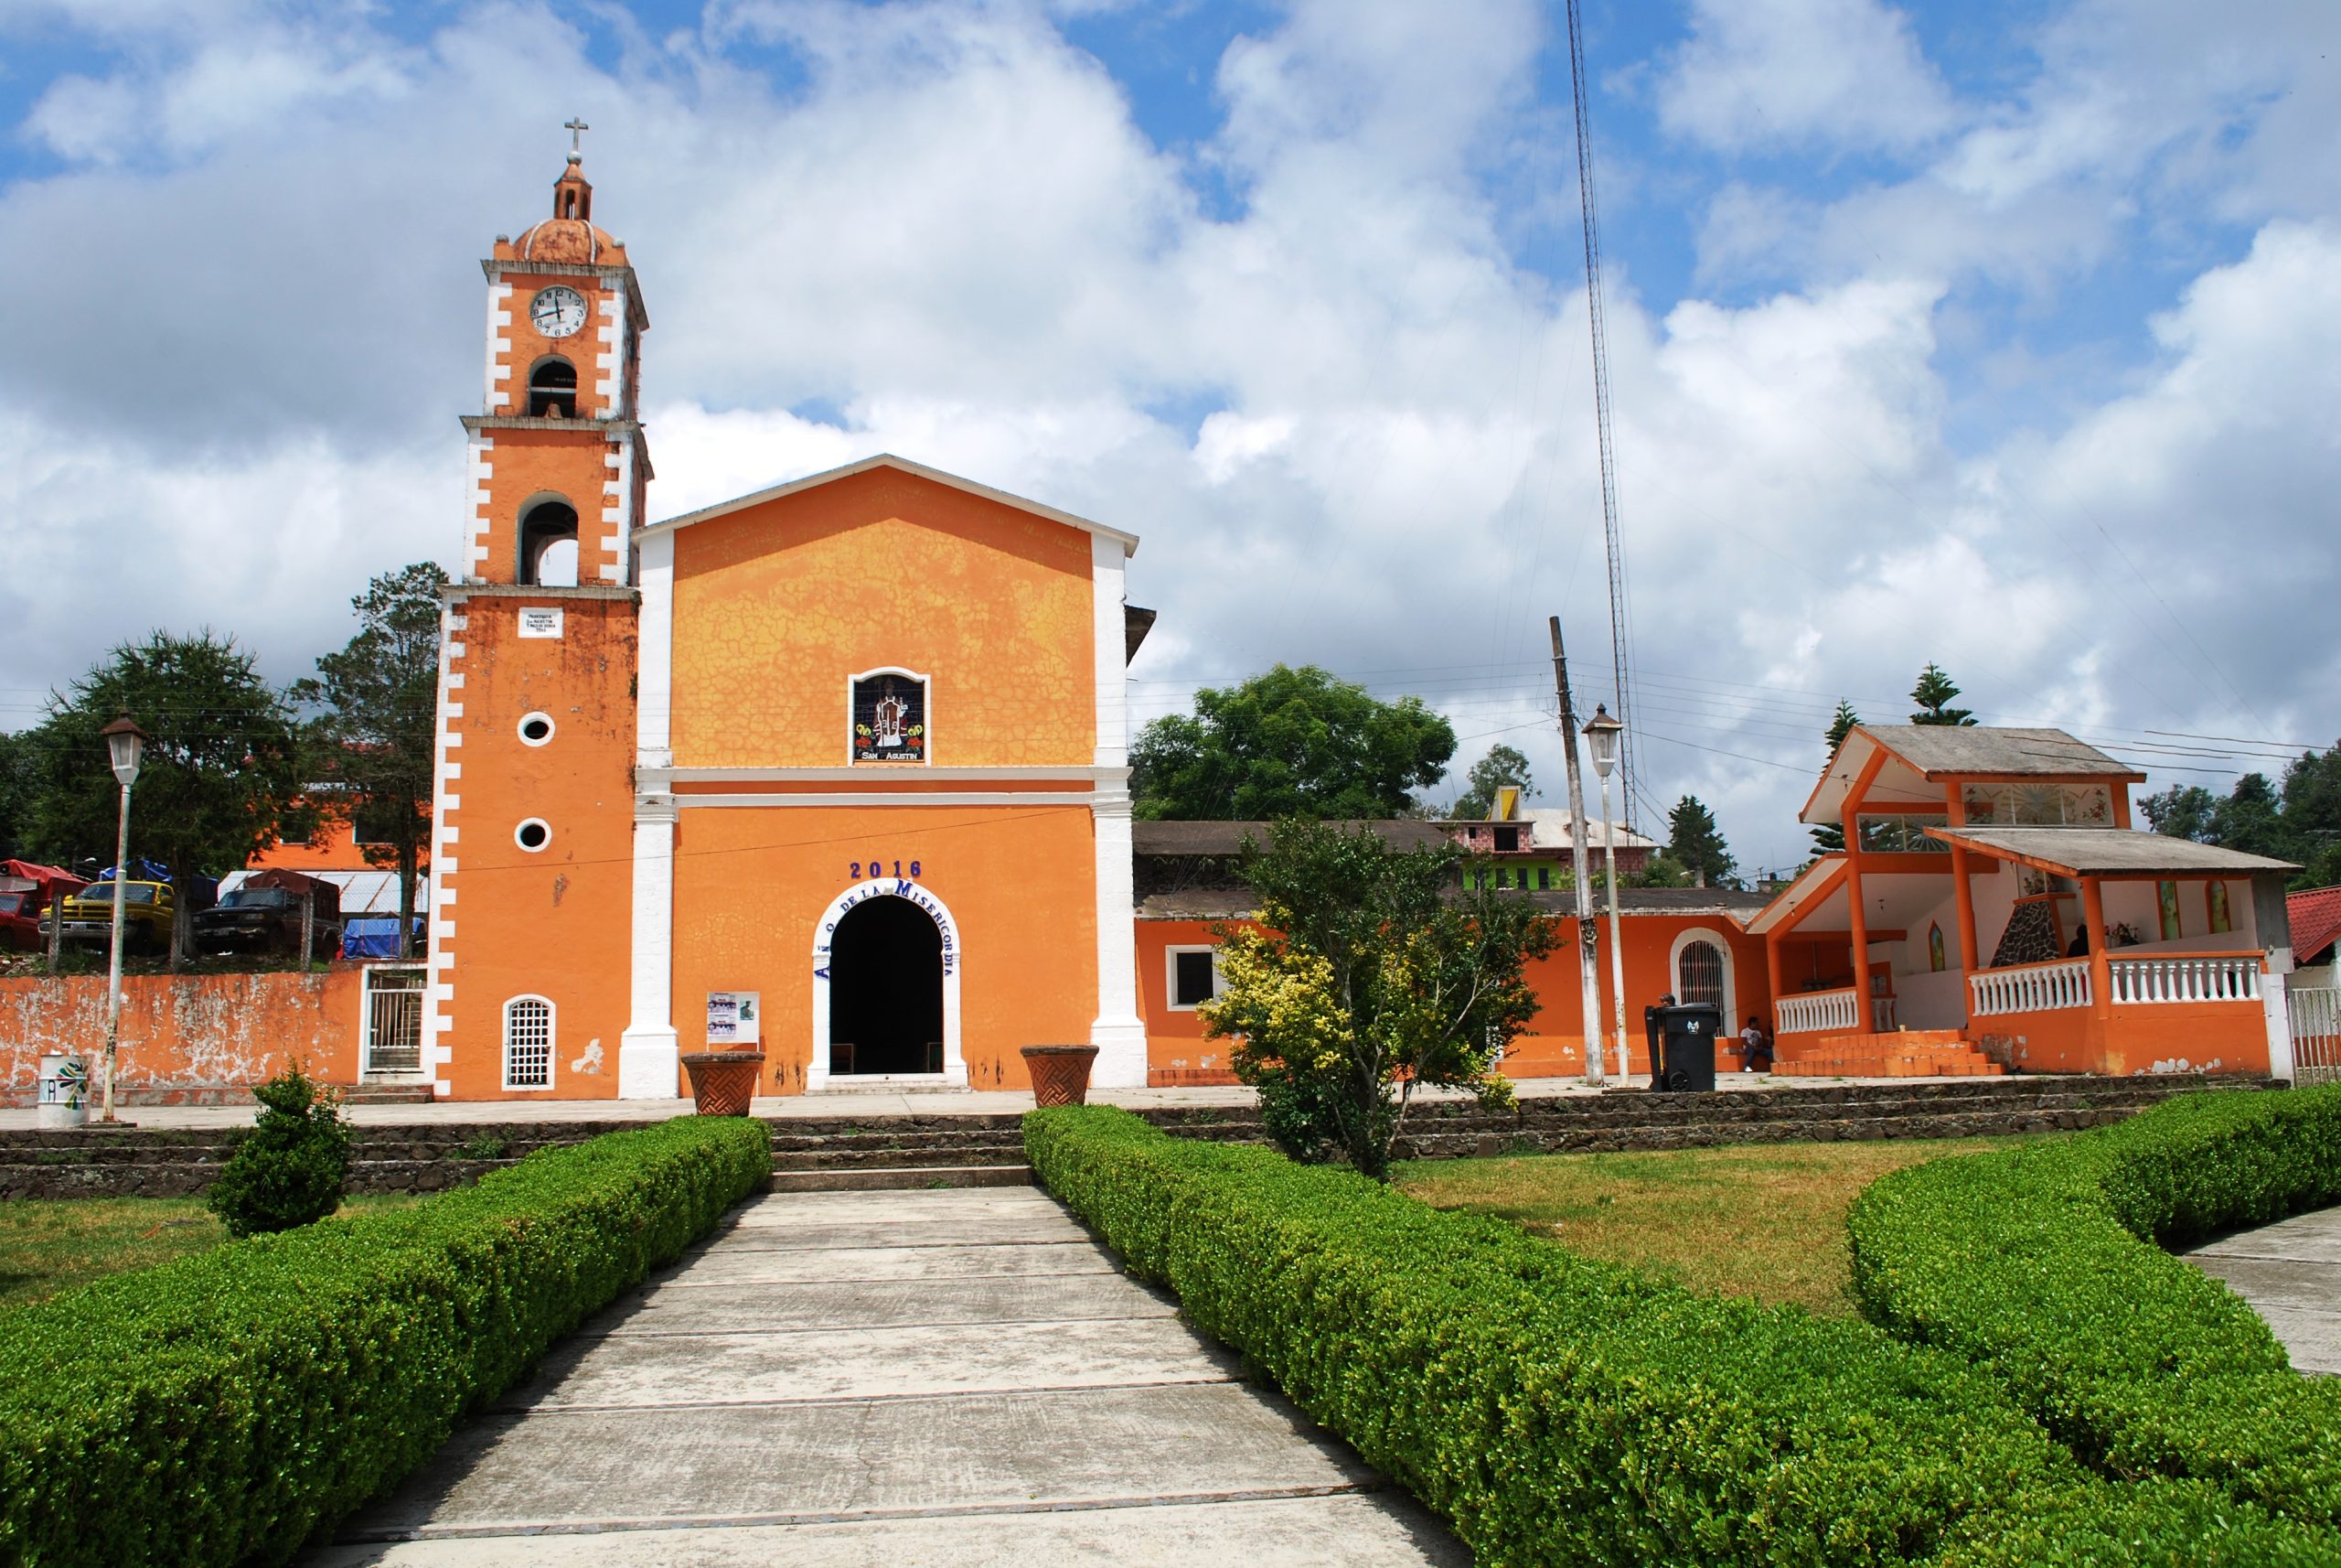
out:
{"label": "dry yellowish-green lawn patch between the straight and curving hedges", "polygon": [[1690,1290],[1852,1315],[1845,1210],[1854,1196],[1889,1170],[2013,1142],[2020,1140],[1524,1154],[1412,1161],[1398,1168],[1395,1180],[1435,1208],[1510,1219],[1587,1257],[1629,1264]]}

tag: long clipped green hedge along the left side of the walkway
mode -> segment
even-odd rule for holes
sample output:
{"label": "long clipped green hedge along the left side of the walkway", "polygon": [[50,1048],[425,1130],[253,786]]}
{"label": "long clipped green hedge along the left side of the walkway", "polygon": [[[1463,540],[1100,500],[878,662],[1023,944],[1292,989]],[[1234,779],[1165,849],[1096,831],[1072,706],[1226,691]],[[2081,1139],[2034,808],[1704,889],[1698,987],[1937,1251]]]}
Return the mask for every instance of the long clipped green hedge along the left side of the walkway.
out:
{"label": "long clipped green hedge along the left side of the walkway", "polygon": [[0,1563],[286,1561],[770,1168],[686,1116],[0,1315]]}

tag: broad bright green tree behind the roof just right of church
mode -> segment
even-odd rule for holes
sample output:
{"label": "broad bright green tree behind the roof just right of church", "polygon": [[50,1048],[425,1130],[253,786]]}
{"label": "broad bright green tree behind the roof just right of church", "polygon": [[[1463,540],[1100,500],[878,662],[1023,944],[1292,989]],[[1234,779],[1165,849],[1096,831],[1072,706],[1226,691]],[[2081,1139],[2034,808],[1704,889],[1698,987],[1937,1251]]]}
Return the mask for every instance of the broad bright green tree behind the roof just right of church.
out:
{"label": "broad bright green tree behind the roof just right of church", "polygon": [[1131,791],[1147,821],[1398,817],[1454,751],[1454,728],[1421,697],[1379,702],[1313,665],[1278,665],[1140,730]]}

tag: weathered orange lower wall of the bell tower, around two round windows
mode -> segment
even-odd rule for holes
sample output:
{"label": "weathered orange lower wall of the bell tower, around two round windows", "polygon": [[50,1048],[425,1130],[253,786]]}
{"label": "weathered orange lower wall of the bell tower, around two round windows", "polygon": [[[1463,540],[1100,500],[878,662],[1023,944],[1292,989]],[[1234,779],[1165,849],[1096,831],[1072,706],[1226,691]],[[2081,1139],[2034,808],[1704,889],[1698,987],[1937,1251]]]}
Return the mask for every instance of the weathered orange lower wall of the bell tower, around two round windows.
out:
{"label": "weathered orange lower wall of the bell tower, around two round windows", "polygon": [[[536,604],[562,606],[559,639],[513,634],[520,606]],[[634,901],[634,604],[473,594],[459,613],[464,772],[449,784],[454,871],[438,910],[438,931],[454,927],[442,943],[456,955],[454,1027],[440,1039],[454,1058],[442,1077],[456,1100],[613,1098]],[[555,723],[543,747],[520,740],[529,711]],[[513,840],[529,817],[552,828],[534,854]],[[552,1088],[506,1095],[503,1004],[522,995],[555,1009]]]}

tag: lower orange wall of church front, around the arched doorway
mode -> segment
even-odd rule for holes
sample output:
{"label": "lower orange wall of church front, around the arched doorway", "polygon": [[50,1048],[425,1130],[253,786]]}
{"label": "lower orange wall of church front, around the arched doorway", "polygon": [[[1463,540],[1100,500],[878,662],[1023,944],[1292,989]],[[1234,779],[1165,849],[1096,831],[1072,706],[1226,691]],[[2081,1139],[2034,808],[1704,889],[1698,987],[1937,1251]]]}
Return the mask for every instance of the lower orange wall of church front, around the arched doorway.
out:
{"label": "lower orange wall of church front, around the arched doorway", "polygon": [[688,800],[674,847],[674,1027],[686,1053],[707,1048],[707,992],[754,990],[763,1093],[805,1088],[815,927],[873,861],[906,871],[918,861],[918,882],[957,927],[969,1088],[1030,1088],[1021,1046],[1089,1041],[1098,917],[1086,805],[693,810]]}

